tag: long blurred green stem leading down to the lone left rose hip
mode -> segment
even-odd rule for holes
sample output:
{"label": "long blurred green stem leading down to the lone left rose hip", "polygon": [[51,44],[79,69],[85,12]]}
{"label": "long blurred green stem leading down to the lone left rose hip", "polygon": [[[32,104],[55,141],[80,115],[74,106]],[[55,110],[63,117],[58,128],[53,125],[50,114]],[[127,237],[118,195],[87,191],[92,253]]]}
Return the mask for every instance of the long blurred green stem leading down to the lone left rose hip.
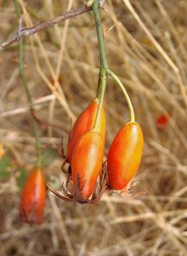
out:
{"label": "long blurred green stem leading down to the lone left rose hip", "polygon": [[[16,0],[14,0],[14,5],[15,5],[15,9],[16,9],[16,13],[18,18],[20,18],[20,10],[19,10],[19,6]],[[34,104],[32,102],[32,98],[30,95],[30,91],[28,88],[28,84],[27,84],[27,80],[24,74],[24,68],[23,68],[23,41],[22,39],[19,41],[19,71],[20,71],[20,76],[23,80],[23,84],[26,90],[26,94],[27,94],[27,98],[28,101],[30,102],[30,110],[34,111]],[[33,128],[34,128],[34,134],[36,137],[36,146],[37,146],[37,150],[38,150],[38,161],[37,161],[37,166],[40,167],[41,166],[41,159],[42,159],[42,155],[41,155],[41,145],[40,145],[40,139],[39,139],[39,133],[38,133],[38,128],[37,128],[37,124],[34,121],[34,118],[32,117],[32,121],[33,121]]]}

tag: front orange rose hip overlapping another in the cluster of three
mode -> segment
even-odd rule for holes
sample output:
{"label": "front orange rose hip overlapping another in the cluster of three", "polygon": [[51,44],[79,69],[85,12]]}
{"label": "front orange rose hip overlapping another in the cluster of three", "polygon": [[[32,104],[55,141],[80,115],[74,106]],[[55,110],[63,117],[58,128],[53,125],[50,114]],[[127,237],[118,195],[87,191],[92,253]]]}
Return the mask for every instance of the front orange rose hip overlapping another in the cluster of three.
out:
{"label": "front orange rose hip overlapping another in the cluster of three", "polygon": [[[89,198],[101,170],[104,156],[104,142],[100,133],[92,130],[80,136],[72,156],[72,178],[75,187],[79,171],[80,182],[86,180],[82,195]],[[80,184],[80,188],[83,184]]]}

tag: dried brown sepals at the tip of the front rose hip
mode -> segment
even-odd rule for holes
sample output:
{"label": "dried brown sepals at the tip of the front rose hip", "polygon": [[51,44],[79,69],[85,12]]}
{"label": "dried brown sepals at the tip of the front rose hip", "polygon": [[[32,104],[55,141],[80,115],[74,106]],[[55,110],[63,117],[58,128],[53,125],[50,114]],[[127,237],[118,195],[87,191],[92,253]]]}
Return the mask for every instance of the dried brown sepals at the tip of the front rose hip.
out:
{"label": "dried brown sepals at the tip of the front rose hip", "polygon": [[95,186],[95,189],[93,191],[92,198],[90,200],[87,199],[87,198],[84,198],[82,193],[81,193],[81,190],[83,189],[83,187],[86,183],[86,180],[80,182],[81,178],[82,177],[79,177],[79,172],[78,172],[77,179],[76,179],[76,184],[75,184],[75,187],[74,187],[74,192],[70,191],[70,193],[67,193],[67,190],[64,189],[63,184],[62,184],[62,189],[63,189],[62,193],[63,193],[63,195],[59,194],[57,191],[55,191],[54,189],[49,187],[49,185],[47,185],[47,187],[57,197],[61,198],[64,201],[73,201],[73,202],[80,203],[80,204],[92,204],[92,205],[98,204],[99,201],[101,200],[101,196],[105,192],[105,188],[106,188],[107,176],[105,175],[105,171],[103,170],[103,168],[101,168],[101,172],[99,174],[99,178],[100,178],[99,193],[97,193],[98,186],[99,186],[99,184],[97,183],[96,186]]}

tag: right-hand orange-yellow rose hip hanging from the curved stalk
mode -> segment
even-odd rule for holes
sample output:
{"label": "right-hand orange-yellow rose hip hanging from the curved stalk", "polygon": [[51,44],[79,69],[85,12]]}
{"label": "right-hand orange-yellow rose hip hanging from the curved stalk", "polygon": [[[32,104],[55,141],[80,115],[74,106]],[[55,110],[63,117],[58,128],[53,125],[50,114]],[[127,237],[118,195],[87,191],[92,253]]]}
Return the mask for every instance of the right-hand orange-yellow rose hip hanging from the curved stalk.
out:
{"label": "right-hand orange-yellow rose hip hanging from the curved stalk", "polygon": [[114,138],[108,152],[107,172],[109,185],[123,189],[135,176],[140,165],[144,139],[141,127],[135,122],[126,122]]}

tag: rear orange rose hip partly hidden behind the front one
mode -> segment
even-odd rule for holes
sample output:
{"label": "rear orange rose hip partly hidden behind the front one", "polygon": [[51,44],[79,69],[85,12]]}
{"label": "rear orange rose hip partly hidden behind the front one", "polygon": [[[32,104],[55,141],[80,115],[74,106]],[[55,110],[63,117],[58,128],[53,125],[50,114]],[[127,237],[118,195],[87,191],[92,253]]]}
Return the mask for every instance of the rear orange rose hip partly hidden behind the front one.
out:
{"label": "rear orange rose hip partly hidden behind the front one", "polygon": [[[77,117],[71,132],[70,132],[70,141],[68,143],[68,162],[70,166],[72,166],[72,155],[75,148],[75,145],[80,138],[80,136],[87,130],[92,129],[95,117],[97,113],[99,100],[94,98],[88,107]],[[97,131],[103,137],[103,141],[105,143],[105,110],[104,104],[102,105],[101,116],[99,118],[98,128]]]}

